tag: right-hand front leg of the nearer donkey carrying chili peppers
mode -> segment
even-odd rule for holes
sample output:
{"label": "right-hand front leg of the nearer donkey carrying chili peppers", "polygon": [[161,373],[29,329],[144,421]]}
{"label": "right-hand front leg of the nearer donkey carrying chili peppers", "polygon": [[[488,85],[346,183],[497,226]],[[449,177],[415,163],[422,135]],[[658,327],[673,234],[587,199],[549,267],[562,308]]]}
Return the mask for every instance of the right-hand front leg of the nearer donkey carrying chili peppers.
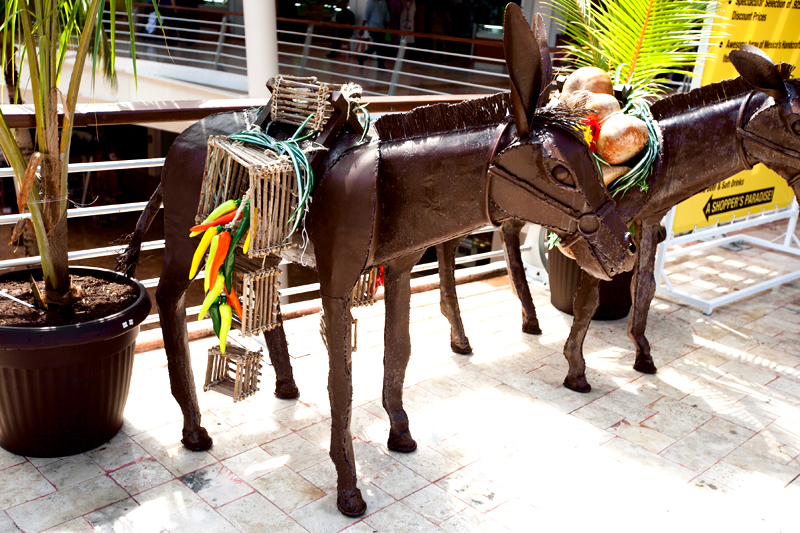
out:
{"label": "right-hand front leg of the nearer donkey carrying chili peppers", "polygon": [[408,428],[408,415],[403,409],[403,382],[411,357],[411,336],[408,331],[411,314],[411,267],[422,254],[414,254],[388,263],[384,268],[386,325],[383,355],[383,408],[389,415],[387,447],[395,452],[410,453],[417,449]]}

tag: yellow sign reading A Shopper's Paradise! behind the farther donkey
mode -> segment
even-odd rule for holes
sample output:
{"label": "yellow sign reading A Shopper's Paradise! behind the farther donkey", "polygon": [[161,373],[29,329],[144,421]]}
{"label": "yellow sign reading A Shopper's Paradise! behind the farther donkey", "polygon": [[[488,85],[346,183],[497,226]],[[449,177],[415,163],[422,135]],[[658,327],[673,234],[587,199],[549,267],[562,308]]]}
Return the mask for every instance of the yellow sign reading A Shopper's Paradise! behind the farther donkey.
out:
{"label": "yellow sign reading A Shopper's Paradise! behind the farther donkey", "polygon": [[[719,5],[718,14],[724,20],[714,30],[726,37],[711,41],[702,85],[739,75],[728,53],[742,44],[757,46],[775,63],[800,66],[800,0],[721,0]],[[788,207],[793,198],[786,180],[757,165],[678,204],[673,230],[683,233],[776,206]]]}

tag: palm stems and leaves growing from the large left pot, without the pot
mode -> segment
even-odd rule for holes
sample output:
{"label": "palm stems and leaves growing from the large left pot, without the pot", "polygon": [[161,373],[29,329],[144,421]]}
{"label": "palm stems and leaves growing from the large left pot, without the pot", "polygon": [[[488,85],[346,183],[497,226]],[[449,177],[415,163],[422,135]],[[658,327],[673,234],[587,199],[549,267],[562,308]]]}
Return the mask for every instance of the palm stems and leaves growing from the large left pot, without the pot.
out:
{"label": "palm stems and leaves growing from the large left pot, without the pot", "polygon": [[[120,0],[132,21],[133,0]],[[6,42],[20,47],[20,61],[30,75],[36,113],[36,150],[26,162],[13,132],[0,112],[0,148],[14,170],[14,185],[21,208],[31,213],[41,255],[45,297],[52,303],[69,304],[70,278],[67,256],[67,173],[78,90],[87,57],[93,71],[102,65],[113,83],[117,0],[109,0],[109,33],[103,26],[106,0],[6,0],[0,30]],[[132,29],[132,24],[131,24]],[[132,55],[134,32],[130,32]],[[3,62],[14,61],[3,48]],[[68,57],[74,57],[67,94],[58,81]],[[135,73],[135,62],[134,62]],[[94,80],[94,75],[92,76]],[[59,109],[59,104],[61,109]],[[62,113],[59,124],[59,113]]]}

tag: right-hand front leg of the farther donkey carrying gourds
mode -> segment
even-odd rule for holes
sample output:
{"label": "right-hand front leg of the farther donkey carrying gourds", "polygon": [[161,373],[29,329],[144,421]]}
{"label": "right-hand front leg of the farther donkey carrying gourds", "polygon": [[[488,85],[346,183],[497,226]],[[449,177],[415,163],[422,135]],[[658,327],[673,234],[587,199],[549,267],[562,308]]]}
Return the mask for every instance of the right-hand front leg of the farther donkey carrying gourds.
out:
{"label": "right-hand front leg of the farther donkey carrying gourds", "polygon": [[650,302],[656,293],[655,261],[658,249],[660,224],[636,224],[637,249],[636,268],[631,283],[633,310],[628,321],[628,338],[636,345],[636,361],[633,368],[645,374],[655,374],[656,365],[650,355],[650,343],[644,336]]}

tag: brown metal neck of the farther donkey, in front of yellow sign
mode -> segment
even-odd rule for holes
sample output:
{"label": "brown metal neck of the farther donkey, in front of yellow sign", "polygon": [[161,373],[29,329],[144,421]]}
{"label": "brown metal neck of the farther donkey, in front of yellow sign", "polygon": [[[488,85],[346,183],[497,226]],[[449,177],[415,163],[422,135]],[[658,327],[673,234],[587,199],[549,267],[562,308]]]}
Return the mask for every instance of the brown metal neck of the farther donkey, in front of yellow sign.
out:
{"label": "brown metal neck of the farther donkey, in front of yellow sign", "polygon": [[661,217],[683,200],[750,168],[736,133],[747,95],[659,120],[663,138],[660,179],[638,210],[640,215]]}

